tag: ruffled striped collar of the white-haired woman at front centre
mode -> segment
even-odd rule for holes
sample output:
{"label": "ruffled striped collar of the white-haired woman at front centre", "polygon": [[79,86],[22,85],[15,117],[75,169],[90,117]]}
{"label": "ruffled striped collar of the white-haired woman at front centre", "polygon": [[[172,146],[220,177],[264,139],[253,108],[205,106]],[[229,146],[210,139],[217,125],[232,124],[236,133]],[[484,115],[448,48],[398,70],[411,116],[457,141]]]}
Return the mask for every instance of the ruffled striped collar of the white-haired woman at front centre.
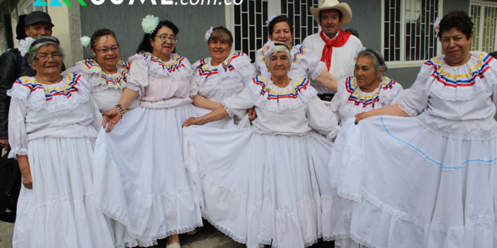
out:
{"label": "ruffled striped collar of the white-haired woman at front centre", "polygon": [[257,76],[248,86],[248,90],[254,99],[255,106],[278,113],[286,110],[293,112],[318,94],[307,78],[300,78],[298,81],[291,80],[288,86],[280,88],[269,78]]}

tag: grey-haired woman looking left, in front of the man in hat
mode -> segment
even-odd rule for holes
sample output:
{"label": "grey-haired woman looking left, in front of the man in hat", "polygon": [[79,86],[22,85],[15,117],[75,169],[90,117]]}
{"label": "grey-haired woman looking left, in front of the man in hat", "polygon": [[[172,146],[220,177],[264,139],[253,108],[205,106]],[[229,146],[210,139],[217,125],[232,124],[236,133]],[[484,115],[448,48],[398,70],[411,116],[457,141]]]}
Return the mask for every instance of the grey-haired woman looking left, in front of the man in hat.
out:
{"label": "grey-haired woman looking left, in front of the man in hat", "polygon": [[342,125],[362,112],[389,106],[402,92],[402,85],[383,76],[387,65],[376,51],[366,49],[357,55],[354,76],[338,80],[336,94],[330,102],[331,111]]}

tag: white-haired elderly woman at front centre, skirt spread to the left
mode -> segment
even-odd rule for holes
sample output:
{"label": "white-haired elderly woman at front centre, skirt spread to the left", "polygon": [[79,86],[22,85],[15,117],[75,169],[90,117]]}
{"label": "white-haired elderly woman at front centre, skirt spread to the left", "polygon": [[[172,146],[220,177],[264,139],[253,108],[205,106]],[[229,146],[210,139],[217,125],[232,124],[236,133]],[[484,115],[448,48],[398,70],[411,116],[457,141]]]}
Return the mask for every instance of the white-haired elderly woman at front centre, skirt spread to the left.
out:
{"label": "white-haired elderly woman at front centre, skirt spread to the left", "polygon": [[270,77],[255,77],[223,106],[184,123],[206,124],[255,107],[253,127],[189,126],[185,161],[203,216],[216,228],[248,248],[302,248],[322,236],[321,202],[332,193],[331,141],[319,133],[333,136],[337,122],[307,78],[288,77],[290,48],[275,43],[266,51]]}

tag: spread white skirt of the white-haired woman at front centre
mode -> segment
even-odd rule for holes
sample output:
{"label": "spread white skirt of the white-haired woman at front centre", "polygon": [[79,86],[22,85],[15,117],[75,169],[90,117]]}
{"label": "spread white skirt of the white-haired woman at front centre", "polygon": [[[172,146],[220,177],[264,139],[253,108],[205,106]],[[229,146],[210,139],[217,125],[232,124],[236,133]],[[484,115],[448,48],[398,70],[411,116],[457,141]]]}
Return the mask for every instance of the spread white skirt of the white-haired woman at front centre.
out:
{"label": "spread white skirt of the white-haired woman at front centre", "polygon": [[202,214],[217,229],[248,248],[303,248],[322,236],[321,193],[331,195],[323,136],[203,126],[184,133]]}

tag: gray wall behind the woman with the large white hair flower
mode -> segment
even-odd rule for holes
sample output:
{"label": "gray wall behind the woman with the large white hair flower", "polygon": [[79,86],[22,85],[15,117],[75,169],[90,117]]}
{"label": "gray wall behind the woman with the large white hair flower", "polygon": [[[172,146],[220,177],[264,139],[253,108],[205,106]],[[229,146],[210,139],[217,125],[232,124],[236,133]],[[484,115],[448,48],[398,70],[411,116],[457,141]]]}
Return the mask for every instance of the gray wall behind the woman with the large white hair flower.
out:
{"label": "gray wall behind the woman with the large white hair flower", "polygon": [[[225,6],[192,5],[152,5],[150,0],[144,4],[135,0],[128,5],[125,0],[115,5],[105,0],[101,5],[88,4],[81,7],[82,35],[91,36],[99,28],[108,28],[117,36],[121,45],[121,59],[133,55],[144,33],[141,28],[142,18],[153,14],[161,20],[170,20],[178,28],[176,52],[185,56],[191,63],[209,56],[204,34],[210,26],[226,25]],[[84,58],[92,57],[89,47],[84,48]]]}

